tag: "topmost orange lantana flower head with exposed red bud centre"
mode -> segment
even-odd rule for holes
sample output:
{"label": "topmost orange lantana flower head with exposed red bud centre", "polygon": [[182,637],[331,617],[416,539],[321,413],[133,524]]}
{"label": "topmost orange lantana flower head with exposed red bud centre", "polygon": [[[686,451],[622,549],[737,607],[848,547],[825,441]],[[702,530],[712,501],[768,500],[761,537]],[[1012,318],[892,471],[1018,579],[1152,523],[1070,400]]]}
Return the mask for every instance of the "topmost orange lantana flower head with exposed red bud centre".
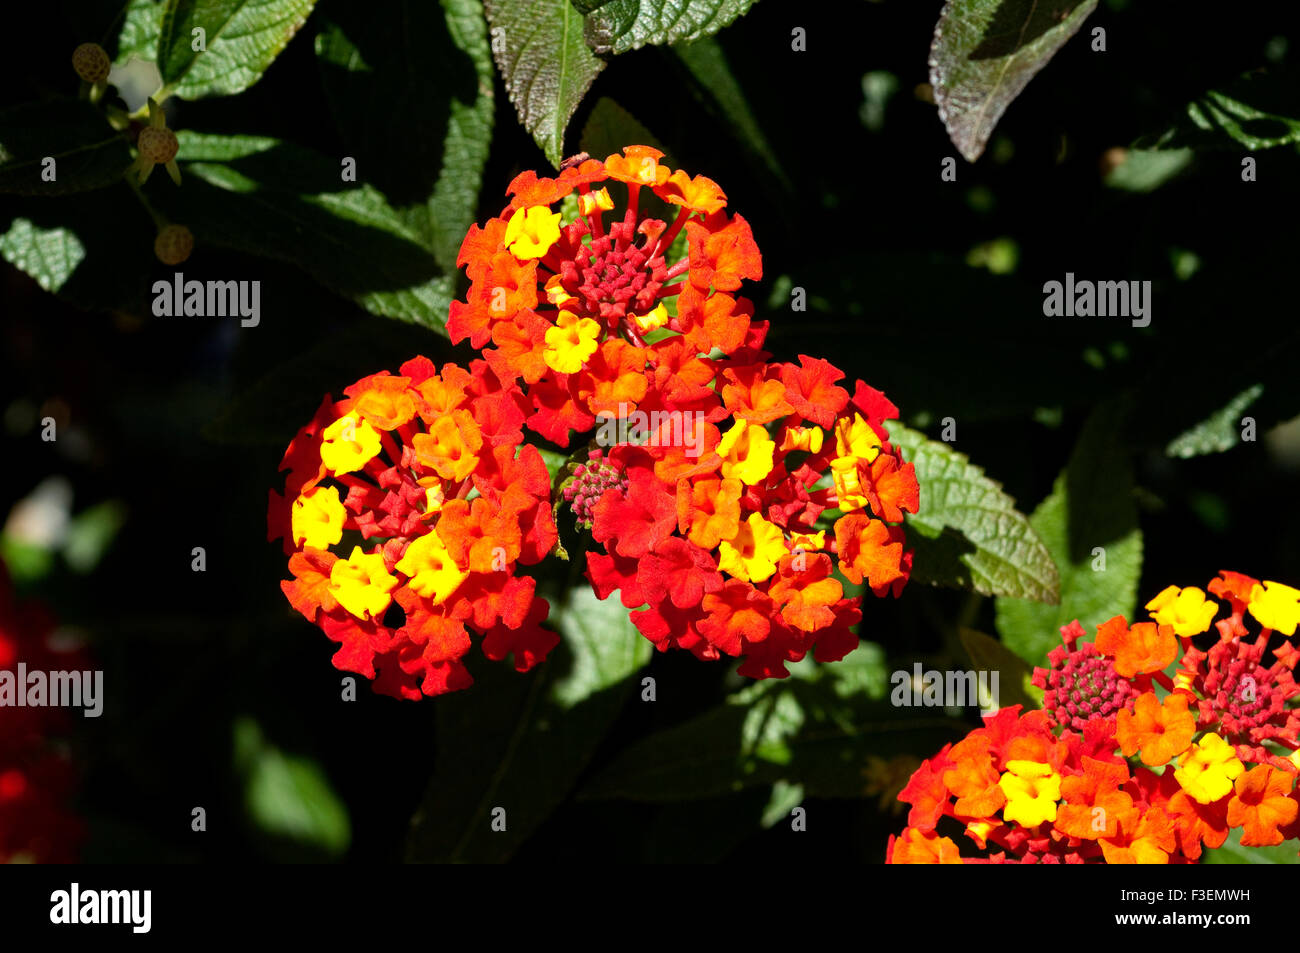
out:
{"label": "topmost orange lantana flower head with exposed red bud centre", "polygon": [[663,157],[628,146],[556,178],[525,172],[502,213],[462,244],[471,283],[447,333],[486,348],[500,380],[523,381],[528,426],[563,446],[610,394],[640,399],[644,384],[632,381],[650,372],[651,338],[680,339],[690,358],[762,345],[766,325],[734,296],[763,274],[749,224],[725,211],[716,182]]}

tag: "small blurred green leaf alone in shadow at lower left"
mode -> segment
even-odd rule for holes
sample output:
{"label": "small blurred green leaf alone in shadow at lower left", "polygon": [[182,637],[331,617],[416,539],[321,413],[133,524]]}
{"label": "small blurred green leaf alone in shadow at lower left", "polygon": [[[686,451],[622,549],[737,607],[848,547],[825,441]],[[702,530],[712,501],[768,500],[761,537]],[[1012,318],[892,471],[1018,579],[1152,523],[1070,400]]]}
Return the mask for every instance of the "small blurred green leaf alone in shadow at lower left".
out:
{"label": "small blurred green leaf alone in shadow at lower left", "polygon": [[315,761],[282,753],[251,718],[237,719],[234,744],[244,810],[255,827],[309,855],[337,858],[347,852],[352,840],[347,807]]}

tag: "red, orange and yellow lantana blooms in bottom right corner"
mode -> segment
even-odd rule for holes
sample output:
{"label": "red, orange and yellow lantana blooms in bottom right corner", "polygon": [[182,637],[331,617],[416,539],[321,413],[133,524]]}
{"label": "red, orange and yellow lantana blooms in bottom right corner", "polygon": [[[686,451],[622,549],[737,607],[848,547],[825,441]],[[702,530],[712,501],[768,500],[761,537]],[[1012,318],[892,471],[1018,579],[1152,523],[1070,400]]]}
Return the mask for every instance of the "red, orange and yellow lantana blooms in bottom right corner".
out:
{"label": "red, orange and yellow lantana blooms in bottom right corner", "polygon": [[1192,863],[1234,831],[1300,837],[1300,590],[1226,571],[1208,589],[1169,586],[1150,620],[1092,642],[1063,627],[1034,673],[1044,707],[988,715],[924,762],[888,861]]}

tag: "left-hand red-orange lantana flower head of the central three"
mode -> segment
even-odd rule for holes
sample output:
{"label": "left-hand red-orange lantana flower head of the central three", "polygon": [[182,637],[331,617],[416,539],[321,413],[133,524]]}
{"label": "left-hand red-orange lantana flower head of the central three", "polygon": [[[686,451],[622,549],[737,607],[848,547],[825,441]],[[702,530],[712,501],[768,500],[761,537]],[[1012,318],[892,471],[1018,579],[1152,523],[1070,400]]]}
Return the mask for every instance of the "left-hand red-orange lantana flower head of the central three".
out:
{"label": "left-hand red-orange lantana flower head of the central three", "polygon": [[559,638],[541,627],[534,581],[515,573],[556,533],[546,467],[520,449],[515,382],[484,361],[439,371],[415,358],[344,394],[325,398],[290,443],[268,512],[292,575],[281,588],[339,644],[334,666],[420,698],[471,684],[471,632],[520,671],[542,660]]}

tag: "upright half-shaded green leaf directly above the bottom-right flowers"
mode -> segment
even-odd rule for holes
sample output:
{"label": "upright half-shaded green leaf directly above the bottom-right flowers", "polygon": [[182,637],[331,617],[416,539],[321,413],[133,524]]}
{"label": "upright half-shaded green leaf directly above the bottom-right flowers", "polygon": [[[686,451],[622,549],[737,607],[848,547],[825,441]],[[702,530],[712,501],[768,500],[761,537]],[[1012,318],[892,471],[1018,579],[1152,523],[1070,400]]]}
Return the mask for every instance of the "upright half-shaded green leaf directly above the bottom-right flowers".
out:
{"label": "upright half-shaded green leaf directly above the bottom-right flowers", "polygon": [[[997,601],[1002,642],[1031,664],[1043,663],[1075,619],[1091,632],[1117,615],[1134,618],[1143,542],[1132,469],[1117,436],[1122,417],[1114,404],[1093,412],[1052,495],[1030,517],[1061,571],[1060,605]],[[1098,547],[1104,569],[1095,568]]]}

